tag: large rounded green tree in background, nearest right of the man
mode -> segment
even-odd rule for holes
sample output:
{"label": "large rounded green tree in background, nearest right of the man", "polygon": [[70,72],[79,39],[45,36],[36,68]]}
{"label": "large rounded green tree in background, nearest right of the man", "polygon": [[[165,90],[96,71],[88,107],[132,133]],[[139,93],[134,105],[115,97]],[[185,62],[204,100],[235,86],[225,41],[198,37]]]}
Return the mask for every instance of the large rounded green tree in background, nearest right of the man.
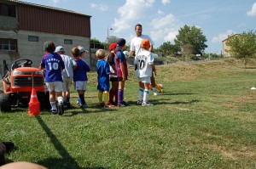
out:
{"label": "large rounded green tree in background, nearest right of the man", "polygon": [[[207,48],[207,38],[203,35],[201,28],[189,25],[184,25],[179,31],[174,39],[175,45],[183,51],[183,47],[192,46],[193,54],[202,54],[205,48]],[[190,50],[190,49],[189,49]],[[185,52],[187,54],[187,51]]]}

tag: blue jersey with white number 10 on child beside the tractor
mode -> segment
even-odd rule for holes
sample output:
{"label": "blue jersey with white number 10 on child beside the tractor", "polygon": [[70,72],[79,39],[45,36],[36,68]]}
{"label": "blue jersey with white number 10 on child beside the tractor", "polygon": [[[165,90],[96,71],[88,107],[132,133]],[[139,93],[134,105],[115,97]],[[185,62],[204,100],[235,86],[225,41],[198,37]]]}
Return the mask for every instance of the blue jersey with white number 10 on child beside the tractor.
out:
{"label": "blue jersey with white number 10 on child beside the tractor", "polygon": [[46,70],[45,82],[63,82],[61,71],[65,69],[65,65],[59,54],[45,54],[40,65]]}

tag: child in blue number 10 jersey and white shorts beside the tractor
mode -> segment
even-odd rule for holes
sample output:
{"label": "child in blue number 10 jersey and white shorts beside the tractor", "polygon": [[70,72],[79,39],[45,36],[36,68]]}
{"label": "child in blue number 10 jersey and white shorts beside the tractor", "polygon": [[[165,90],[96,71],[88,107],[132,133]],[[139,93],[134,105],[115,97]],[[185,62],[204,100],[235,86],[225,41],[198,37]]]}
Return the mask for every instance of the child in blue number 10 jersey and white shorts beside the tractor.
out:
{"label": "child in blue number 10 jersey and white shorts beside the tractor", "polygon": [[[64,114],[64,104],[62,98],[62,75],[61,71],[65,65],[61,56],[55,53],[55,44],[53,42],[44,42],[44,52],[46,54],[41,60],[40,67],[45,70],[45,82],[49,90],[49,103],[53,114]],[[58,100],[58,110],[55,100]]]}

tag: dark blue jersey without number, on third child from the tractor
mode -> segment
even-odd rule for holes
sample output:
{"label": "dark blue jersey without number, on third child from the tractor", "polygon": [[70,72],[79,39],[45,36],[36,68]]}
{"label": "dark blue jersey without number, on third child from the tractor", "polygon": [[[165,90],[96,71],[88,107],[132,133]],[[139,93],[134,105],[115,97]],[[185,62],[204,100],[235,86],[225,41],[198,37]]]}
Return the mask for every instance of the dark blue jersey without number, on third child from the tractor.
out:
{"label": "dark blue jersey without number, on third child from the tractor", "polygon": [[88,81],[87,72],[90,71],[90,66],[83,59],[75,59],[78,67],[73,70],[73,81]]}

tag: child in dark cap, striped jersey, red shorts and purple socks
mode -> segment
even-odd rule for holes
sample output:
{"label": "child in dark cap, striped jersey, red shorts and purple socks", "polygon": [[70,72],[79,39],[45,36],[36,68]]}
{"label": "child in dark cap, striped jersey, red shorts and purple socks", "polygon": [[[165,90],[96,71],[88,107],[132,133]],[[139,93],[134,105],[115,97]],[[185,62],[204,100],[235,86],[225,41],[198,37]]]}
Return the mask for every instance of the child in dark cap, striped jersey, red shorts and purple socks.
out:
{"label": "child in dark cap, striped jersey, red shorts and purple socks", "polygon": [[128,67],[127,61],[125,59],[125,54],[123,53],[123,49],[125,48],[125,39],[119,38],[117,41],[116,47],[116,64],[117,64],[117,77],[119,82],[119,90],[118,90],[118,107],[124,107],[127,104],[124,101],[124,88],[125,81],[128,77]]}

